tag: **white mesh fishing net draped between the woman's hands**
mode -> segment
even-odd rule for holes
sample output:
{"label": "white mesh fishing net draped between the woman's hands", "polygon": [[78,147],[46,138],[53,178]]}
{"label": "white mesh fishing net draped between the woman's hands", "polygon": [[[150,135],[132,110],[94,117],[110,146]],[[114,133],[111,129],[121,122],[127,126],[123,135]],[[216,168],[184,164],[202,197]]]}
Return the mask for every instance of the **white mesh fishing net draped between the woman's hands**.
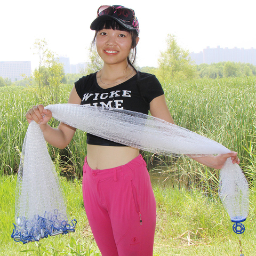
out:
{"label": "white mesh fishing net draped between the woman's hands", "polygon": [[[62,123],[152,153],[198,157],[230,152],[218,142],[187,129],[129,110],[73,104],[49,105],[45,108],[50,109],[53,117]],[[248,183],[239,165],[228,160],[221,170],[220,198],[230,218],[242,220],[247,217],[249,210]],[[17,237],[21,235],[31,236],[28,234],[33,232],[31,237],[34,240],[37,237],[42,238],[48,224],[43,225],[43,228],[41,223],[38,225],[41,217],[50,219],[51,223],[53,218],[58,222],[55,224],[53,221],[54,225],[59,225],[56,230],[60,232],[65,232],[67,227],[74,231],[74,225],[68,226],[66,206],[60,191],[43,134],[39,126],[31,122],[23,145],[18,174],[15,208],[17,227],[14,238],[19,239]]]}

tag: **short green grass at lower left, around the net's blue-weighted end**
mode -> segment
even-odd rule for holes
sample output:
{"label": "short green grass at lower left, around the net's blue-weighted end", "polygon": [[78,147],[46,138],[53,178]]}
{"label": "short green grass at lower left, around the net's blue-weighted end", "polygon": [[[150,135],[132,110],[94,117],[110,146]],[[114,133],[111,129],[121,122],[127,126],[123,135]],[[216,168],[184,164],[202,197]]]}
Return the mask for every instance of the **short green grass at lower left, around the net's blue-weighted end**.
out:
{"label": "short green grass at lower left, around the net's blue-weighted end", "polygon": [[70,219],[78,222],[76,232],[23,245],[11,238],[12,223],[15,222],[16,177],[4,175],[0,178],[0,255],[99,255],[84,210],[81,181],[60,180],[67,199],[67,212]]}

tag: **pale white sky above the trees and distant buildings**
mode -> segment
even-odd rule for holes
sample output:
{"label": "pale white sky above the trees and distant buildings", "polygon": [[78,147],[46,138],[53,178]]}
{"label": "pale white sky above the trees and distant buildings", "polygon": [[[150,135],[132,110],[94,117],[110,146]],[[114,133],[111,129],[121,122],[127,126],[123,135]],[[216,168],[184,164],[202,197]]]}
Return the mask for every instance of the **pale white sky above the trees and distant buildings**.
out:
{"label": "pale white sky above the trees and distant buildings", "polygon": [[210,47],[256,49],[255,0],[2,0],[0,1],[0,61],[31,61],[36,38],[45,38],[49,49],[87,61],[94,36],[90,30],[100,5],[130,7],[140,25],[137,65],[157,66],[168,34],[177,36],[184,49],[199,52]]}

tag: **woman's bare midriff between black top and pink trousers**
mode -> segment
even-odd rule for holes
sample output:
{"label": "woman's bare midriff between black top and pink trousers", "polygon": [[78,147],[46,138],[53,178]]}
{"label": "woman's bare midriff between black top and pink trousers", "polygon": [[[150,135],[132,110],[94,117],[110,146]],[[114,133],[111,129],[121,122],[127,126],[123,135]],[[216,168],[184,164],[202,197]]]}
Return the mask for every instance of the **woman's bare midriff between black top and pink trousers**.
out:
{"label": "woman's bare midriff between black top and pink trousers", "polygon": [[138,155],[137,148],[87,144],[87,163],[94,170],[110,169],[127,164]]}

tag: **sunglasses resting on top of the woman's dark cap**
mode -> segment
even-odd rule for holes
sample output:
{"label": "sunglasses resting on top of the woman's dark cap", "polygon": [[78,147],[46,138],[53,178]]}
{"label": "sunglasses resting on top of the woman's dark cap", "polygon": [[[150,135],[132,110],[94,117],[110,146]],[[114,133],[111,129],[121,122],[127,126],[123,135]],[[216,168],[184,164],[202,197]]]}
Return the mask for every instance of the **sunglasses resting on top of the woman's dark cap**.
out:
{"label": "sunglasses resting on top of the woman's dark cap", "polygon": [[118,18],[123,21],[132,21],[134,18],[134,11],[132,9],[126,7],[114,7],[111,5],[101,5],[97,12],[97,17],[102,15],[113,15],[114,13],[117,14]]}

